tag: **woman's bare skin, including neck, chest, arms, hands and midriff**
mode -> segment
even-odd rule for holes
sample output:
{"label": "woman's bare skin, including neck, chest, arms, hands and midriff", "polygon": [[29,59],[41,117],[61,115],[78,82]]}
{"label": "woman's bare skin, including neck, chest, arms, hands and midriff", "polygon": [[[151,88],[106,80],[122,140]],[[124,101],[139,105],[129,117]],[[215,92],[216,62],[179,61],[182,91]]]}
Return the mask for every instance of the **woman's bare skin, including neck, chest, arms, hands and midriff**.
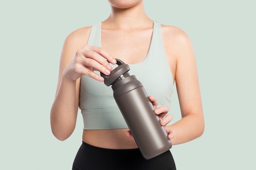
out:
{"label": "woman's bare skin, including neck, chest, arms, hands and midriff", "polygon": [[[52,132],[61,141],[70,137],[76,125],[81,75],[103,82],[103,77],[93,71],[109,75],[112,67],[106,60],[115,64],[115,58],[119,58],[127,64],[134,64],[144,60],[148,53],[153,21],[145,14],[143,1],[108,1],[111,14],[102,22],[102,48],[86,44],[90,26],[70,33],[63,44],[56,97],[50,117]],[[182,119],[166,126],[173,119],[171,114],[166,116],[169,108],[157,107],[157,100],[153,96],[149,96],[149,99],[169,139],[176,145],[200,137],[204,131],[204,117],[196,60],[188,36],[177,27],[162,25],[162,39],[176,83]],[[83,130],[83,141],[101,148],[137,148],[128,129]]]}

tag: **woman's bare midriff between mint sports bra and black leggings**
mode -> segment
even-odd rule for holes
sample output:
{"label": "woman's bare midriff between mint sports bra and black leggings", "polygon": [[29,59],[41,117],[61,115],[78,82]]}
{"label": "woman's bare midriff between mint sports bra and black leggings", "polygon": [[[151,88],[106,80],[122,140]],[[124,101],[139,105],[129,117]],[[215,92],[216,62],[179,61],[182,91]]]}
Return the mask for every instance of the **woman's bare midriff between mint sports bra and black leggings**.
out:
{"label": "woman's bare midriff between mint sports bra and black leggings", "polygon": [[128,129],[83,130],[83,141],[92,146],[107,149],[138,148],[132,137],[126,136]]}

